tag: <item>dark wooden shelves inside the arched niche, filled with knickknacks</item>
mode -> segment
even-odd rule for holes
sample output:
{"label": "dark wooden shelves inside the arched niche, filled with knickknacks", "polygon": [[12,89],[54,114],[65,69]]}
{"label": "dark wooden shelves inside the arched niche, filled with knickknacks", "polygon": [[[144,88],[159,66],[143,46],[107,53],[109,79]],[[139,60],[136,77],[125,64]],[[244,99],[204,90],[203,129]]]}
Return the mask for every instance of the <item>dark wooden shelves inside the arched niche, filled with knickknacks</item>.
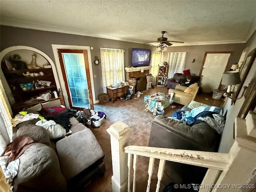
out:
{"label": "dark wooden shelves inside the arched niche, filled with knickknacks", "polygon": [[[19,58],[15,58],[15,55]],[[31,60],[31,55],[37,56],[37,68],[28,68],[27,66]],[[20,60],[20,58],[22,58],[22,60]],[[23,61],[23,58],[25,62]],[[56,100],[64,105],[62,96],[58,95],[56,98],[56,96],[53,95],[53,91],[58,92],[58,88],[56,86],[52,67],[44,56],[31,50],[17,49],[15,52],[8,52],[2,57],[1,69],[7,83],[4,88],[8,89],[8,86],[12,97],[14,98],[14,103],[11,103],[14,114],[23,108],[29,108],[36,104],[53,102]],[[51,98],[47,101],[36,99],[38,96],[47,92],[51,93]]]}

